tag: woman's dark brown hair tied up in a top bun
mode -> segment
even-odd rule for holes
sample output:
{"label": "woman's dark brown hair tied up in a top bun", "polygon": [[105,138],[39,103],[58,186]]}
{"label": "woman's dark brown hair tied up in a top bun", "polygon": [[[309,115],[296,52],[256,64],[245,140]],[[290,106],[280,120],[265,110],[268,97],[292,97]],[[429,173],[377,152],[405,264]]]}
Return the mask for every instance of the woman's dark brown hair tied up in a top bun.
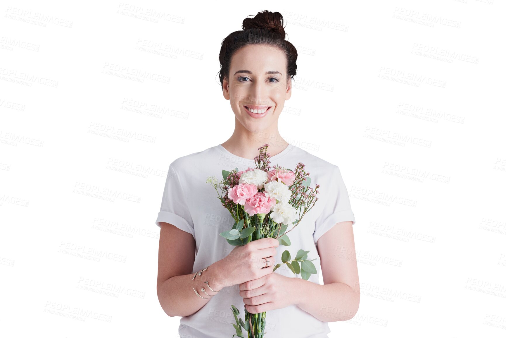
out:
{"label": "woman's dark brown hair tied up in a top bun", "polygon": [[279,12],[265,10],[258,12],[254,18],[245,18],[242,21],[242,30],[228,34],[222,41],[220,50],[220,83],[222,89],[223,79],[229,78],[232,56],[241,47],[255,44],[271,45],[285,53],[287,60],[286,79],[291,81],[297,73],[297,49],[284,40],[285,35],[283,16]]}

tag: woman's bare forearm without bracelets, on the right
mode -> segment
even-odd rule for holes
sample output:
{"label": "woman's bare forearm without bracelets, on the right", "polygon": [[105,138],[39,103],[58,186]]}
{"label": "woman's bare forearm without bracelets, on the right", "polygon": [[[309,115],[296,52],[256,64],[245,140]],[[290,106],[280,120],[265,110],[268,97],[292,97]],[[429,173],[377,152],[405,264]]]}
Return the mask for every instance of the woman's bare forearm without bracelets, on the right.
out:
{"label": "woman's bare forearm without bracelets, on the right", "polygon": [[292,279],[295,304],[315,318],[323,322],[344,321],[357,313],[360,293],[349,285],[340,282],[321,285]]}

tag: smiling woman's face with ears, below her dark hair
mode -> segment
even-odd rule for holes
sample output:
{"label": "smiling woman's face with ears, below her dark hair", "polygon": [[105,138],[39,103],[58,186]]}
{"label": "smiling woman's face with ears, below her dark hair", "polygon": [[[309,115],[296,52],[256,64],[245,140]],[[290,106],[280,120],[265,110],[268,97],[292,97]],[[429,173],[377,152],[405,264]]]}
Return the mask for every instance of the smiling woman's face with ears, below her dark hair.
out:
{"label": "smiling woman's face with ears, below her dark hair", "polygon": [[247,45],[232,56],[223,96],[247,130],[265,131],[273,124],[277,128],[284,101],[291,96],[286,62],[285,54],[270,45]]}

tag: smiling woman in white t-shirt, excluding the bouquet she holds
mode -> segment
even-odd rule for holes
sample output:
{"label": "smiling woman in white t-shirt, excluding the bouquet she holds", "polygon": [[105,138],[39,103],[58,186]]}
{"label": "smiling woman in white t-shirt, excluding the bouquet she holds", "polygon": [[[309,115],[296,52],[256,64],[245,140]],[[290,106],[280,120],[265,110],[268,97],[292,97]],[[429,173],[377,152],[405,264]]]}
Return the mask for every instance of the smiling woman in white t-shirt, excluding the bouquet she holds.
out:
{"label": "smiling woman in white t-shirt, excluding the bouquet she holds", "polygon": [[[181,337],[231,337],[231,305],[240,318],[244,308],[268,311],[265,334],[272,338],[328,337],[327,322],[351,319],[358,309],[355,217],[339,167],[279,135],[278,118],[297,69],[297,51],[284,40],[282,19],[278,12],[259,12],[244,19],[243,30],[223,40],[220,81],[235,115],[235,130],[224,143],[178,158],[168,170],[156,219],[157,293],[167,315],[183,317]],[[221,177],[227,168],[255,167],[253,159],[265,143],[273,165],[295,168],[304,163],[321,192],[290,232],[290,246],[264,238],[233,247],[219,235],[232,228],[233,219],[205,179]],[[292,251],[300,248],[310,250],[308,259],[317,258],[317,274],[304,280],[286,265],[273,272],[284,250],[294,257],[297,252]]]}

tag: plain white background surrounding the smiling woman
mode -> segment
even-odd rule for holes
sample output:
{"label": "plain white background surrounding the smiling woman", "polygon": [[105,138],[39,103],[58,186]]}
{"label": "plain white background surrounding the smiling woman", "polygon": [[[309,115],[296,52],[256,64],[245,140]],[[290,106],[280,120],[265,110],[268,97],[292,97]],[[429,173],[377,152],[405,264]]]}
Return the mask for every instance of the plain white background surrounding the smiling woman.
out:
{"label": "plain white background surrounding the smiling woman", "polygon": [[3,2],[3,335],[178,337],[166,171],[232,134],[221,41],[265,9],[299,51],[281,136],[340,167],[357,221],[360,309],[329,337],[506,334],[504,4],[399,0]]}

